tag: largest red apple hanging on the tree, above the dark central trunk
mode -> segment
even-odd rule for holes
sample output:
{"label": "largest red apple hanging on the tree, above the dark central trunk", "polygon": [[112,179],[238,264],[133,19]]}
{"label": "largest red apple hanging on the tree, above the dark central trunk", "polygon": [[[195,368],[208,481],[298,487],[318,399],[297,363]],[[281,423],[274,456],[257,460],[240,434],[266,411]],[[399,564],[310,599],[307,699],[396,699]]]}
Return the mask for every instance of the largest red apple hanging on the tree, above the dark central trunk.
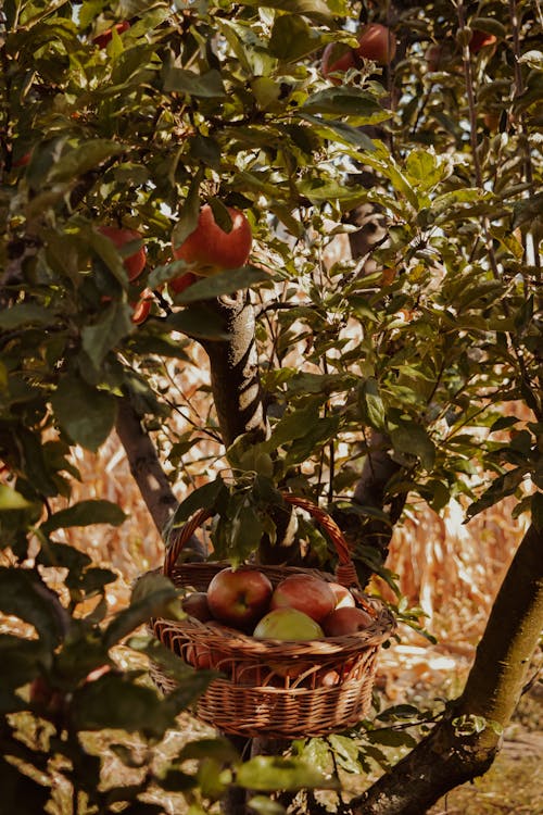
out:
{"label": "largest red apple hanging on the tree, above the dark central trunk", "polygon": [[220,228],[210,204],[204,204],[194,231],[180,247],[173,247],[176,260],[193,263],[193,271],[203,276],[243,266],[253,242],[251,226],[242,212],[232,206],[227,209],[232,222],[230,231]]}

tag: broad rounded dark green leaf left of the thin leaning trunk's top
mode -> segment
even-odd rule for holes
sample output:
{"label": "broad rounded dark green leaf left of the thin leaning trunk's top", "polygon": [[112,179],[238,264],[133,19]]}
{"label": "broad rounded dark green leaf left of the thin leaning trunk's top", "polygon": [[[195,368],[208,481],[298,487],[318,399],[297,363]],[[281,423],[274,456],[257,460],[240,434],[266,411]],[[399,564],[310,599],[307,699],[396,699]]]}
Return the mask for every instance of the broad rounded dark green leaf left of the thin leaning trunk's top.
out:
{"label": "broad rounded dark green leaf left of the thin leaning trunk's top", "polygon": [[115,399],[76,377],[61,379],[51,405],[72,440],[92,452],[105,441],[115,423]]}

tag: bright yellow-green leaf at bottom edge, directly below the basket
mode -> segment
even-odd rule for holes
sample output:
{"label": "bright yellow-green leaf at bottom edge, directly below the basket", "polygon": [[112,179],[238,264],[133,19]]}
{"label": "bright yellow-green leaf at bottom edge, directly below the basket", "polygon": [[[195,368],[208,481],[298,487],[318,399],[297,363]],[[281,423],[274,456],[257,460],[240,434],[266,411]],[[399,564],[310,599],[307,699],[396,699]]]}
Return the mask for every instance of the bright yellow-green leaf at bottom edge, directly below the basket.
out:
{"label": "bright yellow-green leaf at bottom edge, directly below the basket", "polygon": [[255,755],[238,769],[236,783],[262,792],[302,789],[339,789],[336,779],[317,773],[300,760],[278,755]]}

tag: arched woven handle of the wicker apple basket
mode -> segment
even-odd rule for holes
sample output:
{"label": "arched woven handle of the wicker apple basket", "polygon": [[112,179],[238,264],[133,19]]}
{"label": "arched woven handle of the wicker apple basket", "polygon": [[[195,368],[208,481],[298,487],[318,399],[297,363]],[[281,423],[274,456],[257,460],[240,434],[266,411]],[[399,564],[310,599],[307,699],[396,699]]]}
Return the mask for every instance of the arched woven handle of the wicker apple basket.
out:
{"label": "arched woven handle of the wicker apple basket", "polygon": [[[317,506],[317,504],[313,503],[313,501],[310,501],[307,498],[291,496],[289,492],[283,492],[282,498],[287,503],[292,504],[293,506],[299,506],[301,510],[305,510],[306,512],[308,512],[310,515],[312,515],[312,517],[314,517],[315,521],[319,524],[319,526],[326,532],[328,532],[328,537],[333,543],[339,559],[339,564],[336,569],[338,582],[341,582],[348,588],[350,586],[358,586],[359,588],[358,577],[356,575],[354,563],[351,560],[346,540],[336,521],[333,521],[333,518],[327,512],[325,512],[325,510],[321,510],[320,506]],[[180,528],[179,532],[175,536],[174,540],[166,551],[163,567],[163,573],[166,575],[166,577],[172,576],[172,572],[185,543],[192,537],[195,530],[212,515],[213,513],[210,510],[199,510]]]}

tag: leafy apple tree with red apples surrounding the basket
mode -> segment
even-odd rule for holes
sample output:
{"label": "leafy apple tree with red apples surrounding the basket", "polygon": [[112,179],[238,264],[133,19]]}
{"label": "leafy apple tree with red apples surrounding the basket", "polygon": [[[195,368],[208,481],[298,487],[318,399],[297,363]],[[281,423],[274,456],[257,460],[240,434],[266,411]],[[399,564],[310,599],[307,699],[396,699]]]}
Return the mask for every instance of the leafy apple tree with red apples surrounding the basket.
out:
{"label": "leafy apple tree with red apples surrounding the basket", "polygon": [[[365,52],[368,24],[387,37]],[[160,790],[192,813],[220,800],[239,813],[245,789],[252,811],[286,812],[303,790],[292,805],[317,812],[319,787],[352,815],[420,813],[490,766],[543,620],[541,28],[523,0],[4,1],[0,609],[16,624],[0,635],[0,766],[12,811],[59,805],[62,777],[74,813],[163,812]],[[236,260],[210,261],[205,229],[179,251],[203,212]],[[175,387],[202,360],[207,409],[180,432]],[[342,800],[331,748],[313,740],[253,744],[243,763],[248,745],[217,737],[156,770],[154,745],[213,674],[140,636],[131,648],[178,690],[161,698],[139,667],[123,669],[115,648],[151,615],[178,614],[179,592],[147,575],[111,615],[115,574],[63,542],[63,529],[125,519],[105,500],[71,501],[73,448],[96,451],[114,428],[165,538],[216,511],[214,555],[233,563],[333,569],[280,490],[328,509],[364,585],[376,573],[393,584],[388,546],[409,497],[437,512],[456,498],[469,519],[515,496],[515,515],[530,513],[464,692],[362,797]],[[201,477],[179,505],[189,461]],[[198,535],[192,550],[207,554]],[[115,730],[139,734],[147,757]],[[104,786],[89,734],[137,780]],[[359,772],[363,729],[341,744],[333,766]]]}

